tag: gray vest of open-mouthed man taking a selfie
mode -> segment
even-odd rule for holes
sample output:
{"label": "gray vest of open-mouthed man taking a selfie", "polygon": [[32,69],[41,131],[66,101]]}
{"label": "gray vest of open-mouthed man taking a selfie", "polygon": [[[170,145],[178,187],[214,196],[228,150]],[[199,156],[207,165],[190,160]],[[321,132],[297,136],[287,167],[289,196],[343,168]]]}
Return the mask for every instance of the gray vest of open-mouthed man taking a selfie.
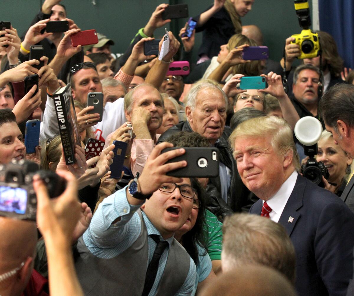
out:
{"label": "gray vest of open-mouthed man taking a selfie", "polygon": [[[79,238],[80,257],[75,267],[86,296],[142,294],[148,266],[148,234],[140,209],[138,214],[142,221],[139,237],[114,258],[103,259],[92,255],[82,237]],[[156,295],[175,295],[187,278],[189,264],[189,254],[174,239]]]}

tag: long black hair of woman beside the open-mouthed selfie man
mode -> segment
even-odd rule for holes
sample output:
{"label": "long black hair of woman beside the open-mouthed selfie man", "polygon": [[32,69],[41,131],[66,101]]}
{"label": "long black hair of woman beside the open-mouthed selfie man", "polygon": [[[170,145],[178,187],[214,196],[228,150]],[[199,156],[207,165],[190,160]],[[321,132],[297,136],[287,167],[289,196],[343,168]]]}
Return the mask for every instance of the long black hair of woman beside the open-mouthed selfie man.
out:
{"label": "long black hair of woman beside the open-mouthed selfie man", "polygon": [[[205,190],[196,178],[189,178],[190,184],[196,189],[198,199],[200,201],[200,208],[198,211],[198,216],[192,229],[187,233],[182,235],[182,245],[184,249],[188,252],[189,256],[193,259],[195,265],[198,265],[198,255],[206,255],[207,247],[204,236],[203,226],[205,224]],[[201,246],[205,252],[204,254],[199,254],[198,247]]]}

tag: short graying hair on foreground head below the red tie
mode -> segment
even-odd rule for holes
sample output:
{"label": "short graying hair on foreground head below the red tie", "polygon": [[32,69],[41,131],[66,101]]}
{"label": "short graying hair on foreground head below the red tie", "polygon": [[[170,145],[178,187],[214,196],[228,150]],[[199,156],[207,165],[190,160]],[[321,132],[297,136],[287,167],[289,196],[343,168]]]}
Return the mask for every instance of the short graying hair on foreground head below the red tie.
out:
{"label": "short graying hair on foreground head below the red tie", "polygon": [[296,255],[289,235],[281,224],[258,215],[225,218],[221,260],[223,272],[256,263],[273,267],[295,282]]}

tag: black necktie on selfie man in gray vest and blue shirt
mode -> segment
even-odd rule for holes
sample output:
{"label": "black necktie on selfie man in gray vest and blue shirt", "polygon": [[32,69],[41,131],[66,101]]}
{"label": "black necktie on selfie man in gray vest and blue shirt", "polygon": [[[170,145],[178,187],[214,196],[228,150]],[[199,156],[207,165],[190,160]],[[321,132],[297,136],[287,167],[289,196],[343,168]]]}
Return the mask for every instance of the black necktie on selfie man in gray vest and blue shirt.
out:
{"label": "black necktie on selfie man in gray vest and blue shirt", "polygon": [[169,243],[166,240],[160,240],[159,235],[156,234],[150,234],[150,237],[155,241],[157,244],[154,255],[149,263],[148,269],[146,271],[146,276],[145,276],[145,283],[144,283],[144,290],[142,296],[147,296],[150,293],[150,290],[154,284],[157,270],[159,268],[159,261],[161,258],[162,253],[166,249],[166,247],[169,245]]}

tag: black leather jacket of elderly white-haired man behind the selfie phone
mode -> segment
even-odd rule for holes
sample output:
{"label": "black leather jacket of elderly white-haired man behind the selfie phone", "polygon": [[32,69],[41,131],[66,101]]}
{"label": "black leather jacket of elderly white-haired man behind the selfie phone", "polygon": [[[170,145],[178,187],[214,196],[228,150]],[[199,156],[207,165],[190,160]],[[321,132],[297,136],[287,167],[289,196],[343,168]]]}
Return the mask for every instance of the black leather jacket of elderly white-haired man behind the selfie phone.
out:
{"label": "black leather jacket of elderly white-haired man behind the selfie phone", "polygon": [[[165,131],[159,138],[158,143],[164,142],[168,137],[179,131],[193,132],[187,121],[178,123]],[[221,181],[220,177],[209,178],[209,184],[206,188],[207,191],[207,204],[208,209],[215,214],[220,221],[226,215],[233,212],[241,212],[249,210],[251,205],[255,203],[258,198],[250,193],[247,187],[242,183],[240,175],[237,171],[236,162],[232,156],[228,138],[232,130],[230,127],[225,126],[222,136],[219,141],[215,143],[215,147],[219,149],[220,161],[231,171],[231,184],[228,190],[227,203],[221,197]]]}

